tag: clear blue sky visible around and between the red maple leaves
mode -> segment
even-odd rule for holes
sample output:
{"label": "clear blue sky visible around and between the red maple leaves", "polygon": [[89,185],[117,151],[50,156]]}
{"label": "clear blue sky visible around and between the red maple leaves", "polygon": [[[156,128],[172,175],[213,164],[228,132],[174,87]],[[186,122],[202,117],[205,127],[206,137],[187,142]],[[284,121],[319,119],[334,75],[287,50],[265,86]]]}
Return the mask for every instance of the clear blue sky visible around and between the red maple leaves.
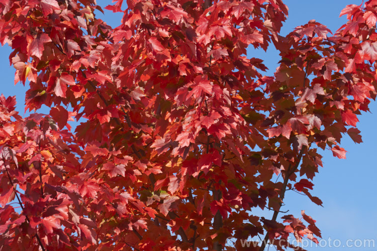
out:
{"label": "clear blue sky visible around and between the red maple leaves", "polygon": [[[340,11],[349,4],[360,5],[359,0],[283,0],[289,7],[289,18],[282,28],[281,34],[286,35],[295,27],[315,19],[326,25],[332,32],[335,32],[344,22],[345,17],[338,18]],[[98,2],[105,7],[111,0],[101,0]],[[122,15],[113,14],[106,11],[105,16],[99,14],[99,18],[106,20],[112,27],[118,26]],[[2,67],[3,86],[0,90],[5,96],[16,95],[17,110],[24,114],[24,99],[26,87],[18,83],[14,85],[14,68],[9,66],[8,56],[11,50],[8,46],[0,48],[0,66]],[[251,55],[251,53],[253,55]],[[255,54],[256,53],[256,54]],[[279,60],[278,53],[271,49],[266,53],[263,51],[251,52],[250,57],[259,57],[265,60],[265,64],[270,68],[271,74],[277,66]],[[47,112],[46,109],[40,112]],[[346,160],[339,160],[332,156],[330,152],[323,152],[324,168],[320,168],[319,174],[314,178],[314,190],[312,194],[322,199],[324,207],[317,206],[307,197],[299,195],[293,191],[286,194],[284,208],[290,210],[289,213],[299,216],[301,210],[317,220],[317,226],[322,231],[323,239],[340,239],[339,250],[375,250],[366,247],[342,247],[347,239],[374,239],[377,246],[377,202],[375,200],[375,169],[377,156],[377,134],[374,132],[377,121],[377,104],[370,105],[371,113],[362,113],[359,116],[358,129],[361,131],[363,143],[354,144],[345,136],[341,142],[341,147],[347,153]],[[272,212],[263,212],[263,216],[270,218]],[[322,242],[324,243],[324,242]],[[333,243],[333,242],[332,242]],[[349,243],[353,243],[349,242]],[[358,244],[359,241],[356,241]],[[335,244],[338,244],[335,242]],[[334,247],[307,247],[307,250],[333,250]],[[270,250],[274,248],[270,247]]]}

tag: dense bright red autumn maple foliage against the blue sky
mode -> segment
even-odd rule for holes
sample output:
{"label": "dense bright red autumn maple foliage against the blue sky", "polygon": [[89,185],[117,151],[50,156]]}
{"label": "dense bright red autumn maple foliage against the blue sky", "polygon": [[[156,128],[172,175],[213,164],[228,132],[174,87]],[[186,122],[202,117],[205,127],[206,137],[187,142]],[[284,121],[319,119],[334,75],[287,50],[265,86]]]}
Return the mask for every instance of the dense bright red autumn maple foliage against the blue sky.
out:
{"label": "dense bright red autumn maple foliage against the blue sky", "polygon": [[[0,97],[1,250],[317,242],[304,211],[279,211],[288,190],[321,205],[310,192],[317,150],[345,158],[342,136],[361,142],[357,115],[376,96],[377,1],[347,6],[334,35],[313,20],[286,37],[281,0],[113,2],[124,13],[116,28],[95,0],[0,1],[0,42],[34,111],[22,117],[15,97]],[[245,56],[268,46],[281,56],[273,76]]]}

